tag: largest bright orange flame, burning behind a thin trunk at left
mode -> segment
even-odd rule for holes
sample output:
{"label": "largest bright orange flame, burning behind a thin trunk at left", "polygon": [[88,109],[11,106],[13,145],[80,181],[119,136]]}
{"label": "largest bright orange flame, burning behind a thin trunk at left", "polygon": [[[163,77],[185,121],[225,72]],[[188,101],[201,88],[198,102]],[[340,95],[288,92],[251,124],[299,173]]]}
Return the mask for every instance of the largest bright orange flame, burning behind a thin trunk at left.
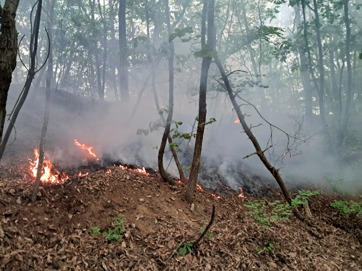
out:
{"label": "largest bright orange flame, burning behind a thin trunk at left", "polygon": [[[30,163],[30,173],[31,175],[36,178],[37,171],[38,171],[38,164],[39,164],[39,149],[34,150],[35,153],[35,160],[29,159]],[[45,165],[44,165],[45,164]],[[53,174],[53,172],[56,172],[56,174]],[[42,165],[42,171],[41,171],[41,177],[40,180],[42,182],[51,182],[51,183],[62,183],[69,179],[69,176],[67,176],[64,173],[60,173],[58,170],[56,170],[51,164],[50,160],[43,161]]]}

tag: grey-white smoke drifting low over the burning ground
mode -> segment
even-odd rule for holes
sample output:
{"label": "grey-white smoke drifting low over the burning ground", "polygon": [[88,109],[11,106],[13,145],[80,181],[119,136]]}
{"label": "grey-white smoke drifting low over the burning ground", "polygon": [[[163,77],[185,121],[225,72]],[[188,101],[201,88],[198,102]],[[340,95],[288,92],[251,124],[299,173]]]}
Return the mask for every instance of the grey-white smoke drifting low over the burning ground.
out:
{"label": "grey-white smoke drifting low over the burning ground", "polygon": [[[8,112],[19,93],[19,87],[12,86]],[[34,91],[35,89],[32,89],[29,99],[19,114],[15,125],[17,139],[6,149],[8,156],[24,148],[31,156],[32,149],[39,144],[45,94],[44,89],[40,88],[34,97]],[[158,91],[160,106],[164,108],[168,103],[167,84],[160,84]],[[174,120],[183,122],[178,129],[180,132],[191,132],[198,109],[197,100],[193,101],[196,97],[187,97],[178,89],[175,92]],[[137,94],[137,91],[135,90],[134,93]],[[215,97],[216,94],[218,97],[208,100],[207,117],[208,119],[215,118],[217,121],[206,125],[199,182],[205,187],[215,189],[219,185],[218,181],[222,181],[235,191],[238,191],[240,186],[248,186],[248,191],[256,195],[260,191],[258,187],[261,186],[261,180],[273,183],[271,174],[256,155],[243,159],[255,150],[246,134],[243,133],[240,123],[235,123],[237,116],[231,111],[231,105],[225,94],[214,91],[210,92],[209,96]],[[136,98],[133,97],[133,101]],[[146,168],[157,169],[157,146],[161,143],[163,127],[149,132],[147,136],[136,134],[139,128],[147,129],[150,122],[156,122],[159,119],[151,88],[146,88],[135,116],[131,116],[133,105],[132,100],[130,105],[114,101],[102,103],[97,100],[92,101],[86,96],[52,90],[46,139],[47,158],[62,168],[84,166],[89,161],[102,164],[107,157],[108,160],[122,161],[124,164],[137,163]],[[247,114],[246,120],[249,125],[263,124],[253,128],[253,132],[261,146],[267,147],[270,144],[269,125],[258,117],[251,106],[242,106],[242,111]],[[302,116],[299,117],[302,118]],[[270,113],[266,118],[290,134],[295,132],[293,130],[295,121],[286,113]],[[308,131],[307,128],[310,128],[308,120],[305,120],[303,125],[301,136],[308,138],[315,131]],[[99,160],[89,155],[86,150],[74,145],[74,139],[87,146],[93,146],[93,152]],[[287,137],[274,128],[273,142],[274,147],[268,151],[273,152],[275,155],[270,157],[276,159],[285,151]],[[295,186],[301,182],[321,183],[330,174],[338,175],[340,169],[335,167],[338,165],[337,158],[324,152],[323,142],[323,135],[317,134],[296,149],[294,154],[298,155],[290,157],[291,155],[288,154],[282,161],[276,162],[275,166],[281,168],[282,177],[289,185]],[[187,151],[186,141],[180,147],[182,152],[179,152],[178,156],[184,168],[191,165],[193,143],[194,140],[191,140],[191,146]],[[165,154],[164,166],[169,174],[178,177],[176,165],[169,151]],[[350,173],[349,177],[355,176]]]}

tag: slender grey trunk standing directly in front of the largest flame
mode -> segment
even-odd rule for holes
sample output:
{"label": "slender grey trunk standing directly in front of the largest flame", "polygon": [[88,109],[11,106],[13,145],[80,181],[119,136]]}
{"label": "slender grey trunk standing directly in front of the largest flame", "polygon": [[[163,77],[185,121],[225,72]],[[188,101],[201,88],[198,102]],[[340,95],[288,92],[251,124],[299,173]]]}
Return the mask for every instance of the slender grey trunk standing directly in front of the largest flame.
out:
{"label": "slender grey trunk standing directly in front of the largest flame", "polygon": [[[54,1],[55,2],[55,1]],[[40,137],[40,146],[39,146],[39,162],[38,162],[38,169],[37,175],[35,178],[35,183],[33,187],[32,193],[32,202],[35,202],[36,196],[39,189],[41,173],[43,170],[43,161],[44,161],[44,152],[45,152],[45,136],[46,136],[46,129],[48,127],[48,120],[49,120],[49,111],[50,111],[50,84],[51,84],[51,75],[53,74],[53,37],[51,36],[51,19],[53,17],[53,12],[51,12],[50,8],[50,0],[46,0],[46,11],[47,11],[47,26],[48,26],[48,37],[49,37],[49,61],[48,61],[48,68],[46,73],[46,92],[45,92],[45,113],[44,113],[44,121],[43,121],[43,128],[41,129],[41,137]]]}

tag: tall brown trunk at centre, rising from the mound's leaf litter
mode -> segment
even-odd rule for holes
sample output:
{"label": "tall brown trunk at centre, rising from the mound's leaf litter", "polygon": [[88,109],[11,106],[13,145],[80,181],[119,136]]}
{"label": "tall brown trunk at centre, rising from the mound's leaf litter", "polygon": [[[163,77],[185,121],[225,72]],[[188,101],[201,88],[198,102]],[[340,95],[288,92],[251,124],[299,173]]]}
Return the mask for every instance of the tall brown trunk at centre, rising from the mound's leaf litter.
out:
{"label": "tall brown trunk at centre, rising from the mound's leaf litter", "polygon": [[[208,13],[208,49],[206,50],[206,52],[214,49],[214,3],[215,0],[204,0],[202,8],[201,47],[205,46],[206,44],[206,12]],[[202,50],[204,49],[202,48]],[[192,203],[194,199],[197,175],[200,166],[203,132],[205,130],[206,122],[206,88],[208,85],[208,73],[211,60],[211,57],[202,58],[199,93],[199,119],[197,124],[194,156],[192,158],[190,178],[185,193],[185,199],[188,203]]]}

